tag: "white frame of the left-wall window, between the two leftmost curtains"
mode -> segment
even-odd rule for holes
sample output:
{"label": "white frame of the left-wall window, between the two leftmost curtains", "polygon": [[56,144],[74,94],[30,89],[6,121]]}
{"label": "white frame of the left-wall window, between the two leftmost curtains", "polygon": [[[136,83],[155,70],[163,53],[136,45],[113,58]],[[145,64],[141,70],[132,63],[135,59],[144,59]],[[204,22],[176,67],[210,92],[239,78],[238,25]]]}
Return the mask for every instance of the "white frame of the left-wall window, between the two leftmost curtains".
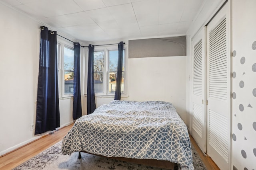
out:
{"label": "white frame of the left-wall window, between the two leftmost curtains", "polygon": [[74,44],[57,37],[57,45],[59,45],[57,52],[59,98],[72,97],[74,96],[72,93],[65,94],[64,48],[66,47],[74,51]]}

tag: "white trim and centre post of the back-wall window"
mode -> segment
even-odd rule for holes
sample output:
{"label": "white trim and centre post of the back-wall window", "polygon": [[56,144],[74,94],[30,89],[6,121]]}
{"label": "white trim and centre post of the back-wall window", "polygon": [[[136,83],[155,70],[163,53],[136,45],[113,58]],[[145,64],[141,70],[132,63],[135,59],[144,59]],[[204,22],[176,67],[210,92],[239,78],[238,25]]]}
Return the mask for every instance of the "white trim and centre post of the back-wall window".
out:
{"label": "white trim and centre post of the back-wall window", "polygon": [[[101,46],[101,47],[94,47],[94,52],[97,51],[104,51],[104,70],[103,70],[103,92],[95,92],[95,97],[114,97],[114,92],[109,92],[109,53],[108,51],[118,51],[118,46]],[[88,50],[86,50],[87,56],[87,65],[88,65]],[[127,77],[128,77],[128,45],[124,45],[124,92],[121,93],[122,98],[128,98],[128,87],[127,87]],[[88,69],[86,69],[86,80],[88,75]],[[87,90],[84,89],[84,96]]]}

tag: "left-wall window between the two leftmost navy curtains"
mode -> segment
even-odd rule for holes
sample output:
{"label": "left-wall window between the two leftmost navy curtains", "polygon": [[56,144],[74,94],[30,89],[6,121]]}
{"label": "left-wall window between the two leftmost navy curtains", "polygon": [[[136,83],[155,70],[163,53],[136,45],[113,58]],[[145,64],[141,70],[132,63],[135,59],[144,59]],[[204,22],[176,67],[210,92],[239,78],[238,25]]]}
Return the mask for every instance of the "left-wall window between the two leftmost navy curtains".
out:
{"label": "left-wall window between the two leftmost navy curtains", "polygon": [[74,90],[74,45],[58,39],[57,56],[59,96],[71,96]]}

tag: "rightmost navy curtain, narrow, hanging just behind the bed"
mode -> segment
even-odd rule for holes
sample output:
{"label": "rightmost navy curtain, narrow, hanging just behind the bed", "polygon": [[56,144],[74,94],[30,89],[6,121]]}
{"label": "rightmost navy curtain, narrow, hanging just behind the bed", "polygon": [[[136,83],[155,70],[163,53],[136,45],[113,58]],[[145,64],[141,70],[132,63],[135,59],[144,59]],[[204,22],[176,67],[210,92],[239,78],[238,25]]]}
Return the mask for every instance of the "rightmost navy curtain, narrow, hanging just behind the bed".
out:
{"label": "rightmost navy curtain, narrow, hanging just behind the bed", "polygon": [[116,73],[116,91],[114,100],[121,100],[122,70],[123,70],[124,42],[118,43],[118,63]]}

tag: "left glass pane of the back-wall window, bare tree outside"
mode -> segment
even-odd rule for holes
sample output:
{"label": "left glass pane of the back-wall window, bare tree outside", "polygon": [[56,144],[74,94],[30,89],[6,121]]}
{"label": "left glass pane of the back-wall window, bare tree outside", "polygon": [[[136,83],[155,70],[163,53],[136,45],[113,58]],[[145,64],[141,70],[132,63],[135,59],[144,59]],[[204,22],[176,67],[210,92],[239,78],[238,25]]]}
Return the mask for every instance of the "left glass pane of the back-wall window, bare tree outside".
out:
{"label": "left glass pane of the back-wall window, bare tree outside", "polygon": [[103,92],[104,51],[94,52],[94,92]]}

